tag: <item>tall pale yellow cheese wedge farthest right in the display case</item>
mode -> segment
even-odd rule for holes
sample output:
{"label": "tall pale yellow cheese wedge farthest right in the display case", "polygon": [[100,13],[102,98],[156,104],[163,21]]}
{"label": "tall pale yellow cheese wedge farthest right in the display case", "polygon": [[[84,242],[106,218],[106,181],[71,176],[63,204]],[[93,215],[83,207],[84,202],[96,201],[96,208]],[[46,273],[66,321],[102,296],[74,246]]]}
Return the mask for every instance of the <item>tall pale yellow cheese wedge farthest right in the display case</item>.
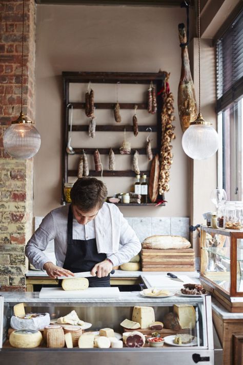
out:
{"label": "tall pale yellow cheese wedge farthest right in the display case", "polygon": [[181,328],[195,328],[196,311],[193,305],[174,304],[173,312],[177,315]]}

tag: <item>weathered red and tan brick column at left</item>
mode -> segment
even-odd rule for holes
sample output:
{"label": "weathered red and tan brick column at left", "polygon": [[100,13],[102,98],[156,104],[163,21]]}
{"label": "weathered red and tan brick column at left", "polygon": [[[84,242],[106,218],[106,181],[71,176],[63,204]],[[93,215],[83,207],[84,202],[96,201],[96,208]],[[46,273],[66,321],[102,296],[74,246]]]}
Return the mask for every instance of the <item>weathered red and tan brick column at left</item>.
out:
{"label": "weathered red and tan brick column at left", "polygon": [[[0,290],[25,290],[25,244],[32,233],[33,158],[11,158],[7,127],[21,112],[22,0],[0,3]],[[23,113],[34,120],[35,3],[25,1]]]}

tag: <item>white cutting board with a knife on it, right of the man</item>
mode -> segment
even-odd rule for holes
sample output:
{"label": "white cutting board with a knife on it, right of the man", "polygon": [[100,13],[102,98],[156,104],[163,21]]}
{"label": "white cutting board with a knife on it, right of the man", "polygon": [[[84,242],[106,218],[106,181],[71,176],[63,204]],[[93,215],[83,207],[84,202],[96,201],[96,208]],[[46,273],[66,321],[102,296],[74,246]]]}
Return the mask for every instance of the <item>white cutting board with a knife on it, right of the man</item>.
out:
{"label": "white cutting board with a knife on it, right of the man", "polygon": [[183,280],[183,282],[172,280],[168,278],[167,275],[143,275],[143,276],[145,280],[148,282],[149,287],[156,286],[156,288],[165,288],[165,287],[181,288],[183,284],[188,284],[188,283],[196,284],[196,282],[187,275],[176,275],[179,279]]}

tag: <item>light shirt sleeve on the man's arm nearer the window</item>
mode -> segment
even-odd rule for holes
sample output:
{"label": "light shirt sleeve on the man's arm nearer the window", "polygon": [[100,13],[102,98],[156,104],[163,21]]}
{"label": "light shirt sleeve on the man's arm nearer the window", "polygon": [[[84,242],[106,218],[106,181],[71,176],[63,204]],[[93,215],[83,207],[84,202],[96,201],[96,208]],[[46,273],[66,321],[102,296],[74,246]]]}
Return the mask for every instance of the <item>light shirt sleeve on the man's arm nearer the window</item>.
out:
{"label": "light shirt sleeve on the man's arm nearer the window", "polygon": [[[122,214],[122,213],[120,213]],[[129,226],[123,214],[120,220],[120,247],[119,250],[107,258],[113,262],[113,266],[122,265],[129,262],[141,250],[141,244],[136,233]]]}

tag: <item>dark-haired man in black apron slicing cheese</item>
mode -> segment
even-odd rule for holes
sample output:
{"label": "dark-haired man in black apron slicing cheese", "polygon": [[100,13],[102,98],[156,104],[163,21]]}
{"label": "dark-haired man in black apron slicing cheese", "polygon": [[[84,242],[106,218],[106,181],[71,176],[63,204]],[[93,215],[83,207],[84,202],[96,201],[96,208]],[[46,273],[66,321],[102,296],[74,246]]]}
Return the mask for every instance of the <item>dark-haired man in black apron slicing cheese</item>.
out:
{"label": "dark-haired man in black apron slicing cheese", "polygon": [[[105,203],[107,188],[102,181],[80,178],[70,196],[70,205],[44,217],[27,243],[26,256],[51,278],[91,271],[89,286],[110,286],[112,267],[128,262],[141,244],[119,209]],[[43,252],[53,239],[57,265]]]}

